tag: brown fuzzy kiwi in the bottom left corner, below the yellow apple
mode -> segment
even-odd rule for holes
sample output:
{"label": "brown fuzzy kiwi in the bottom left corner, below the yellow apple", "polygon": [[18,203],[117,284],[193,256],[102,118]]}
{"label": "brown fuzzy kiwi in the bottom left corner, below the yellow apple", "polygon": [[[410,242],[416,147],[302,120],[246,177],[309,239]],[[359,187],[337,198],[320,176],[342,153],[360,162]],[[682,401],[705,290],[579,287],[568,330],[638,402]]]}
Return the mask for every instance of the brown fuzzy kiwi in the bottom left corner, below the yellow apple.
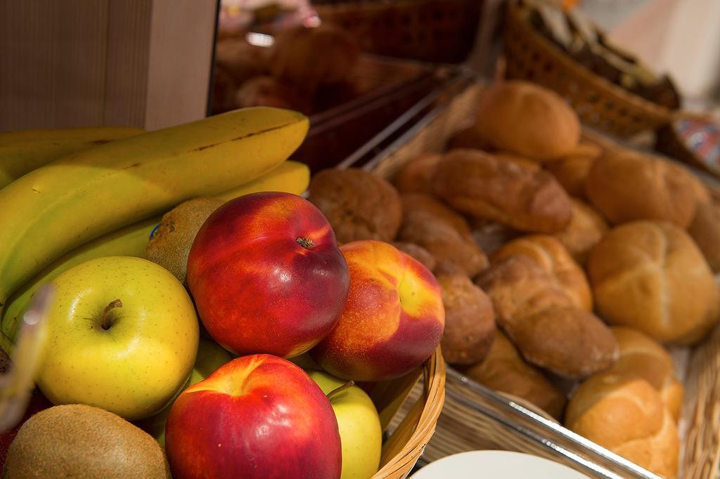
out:
{"label": "brown fuzzy kiwi in the bottom left corner, below the yellow apple", "polygon": [[120,416],[84,404],[28,419],[10,444],[3,478],[170,478],[160,444]]}

